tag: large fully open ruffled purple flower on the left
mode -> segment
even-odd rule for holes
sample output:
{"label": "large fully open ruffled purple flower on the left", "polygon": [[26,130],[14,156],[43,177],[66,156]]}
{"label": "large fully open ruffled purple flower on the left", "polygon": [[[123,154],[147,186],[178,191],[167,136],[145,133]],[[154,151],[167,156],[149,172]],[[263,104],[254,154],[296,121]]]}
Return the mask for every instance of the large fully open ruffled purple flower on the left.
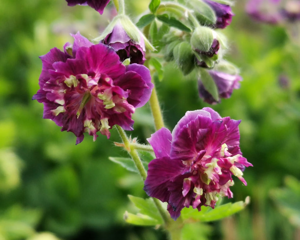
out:
{"label": "large fully open ruffled purple flower on the left", "polygon": [[110,137],[117,124],[133,130],[132,113],[150,98],[150,71],[139,64],[124,66],[115,50],[92,44],[79,33],[65,51],[52,48],[41,56],[40,89],[33,96],[44,103],[43,118],[52,119],[61,131],[71,131],[81,143],[83,133]]}

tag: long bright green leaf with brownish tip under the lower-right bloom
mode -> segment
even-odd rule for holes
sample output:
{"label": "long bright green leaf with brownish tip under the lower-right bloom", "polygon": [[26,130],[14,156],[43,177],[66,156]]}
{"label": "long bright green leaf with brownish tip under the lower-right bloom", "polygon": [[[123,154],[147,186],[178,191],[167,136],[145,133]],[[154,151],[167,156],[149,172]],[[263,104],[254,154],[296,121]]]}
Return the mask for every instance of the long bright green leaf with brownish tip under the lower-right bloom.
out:
{"label": "long bright green leaf with brownish tip under the lower-right bloom", "polygon": [[[234,213],[237,213],[243,210],[248,204],[250,198],[247,197],[245,202],[239,201],[235,203],[227,203],[224,205],[220,205],[215,207],[215,209],[206,209],[210,207],[201,207],[201,211],[198,212],[197,209],[186,208],[181,211],[181,215],[183,219],[192,218],[194,220],[208,222],[208,221],[216,221],[220,220],[224,217],[231,216]],[[204,212],[202,212],[204,210]]]}

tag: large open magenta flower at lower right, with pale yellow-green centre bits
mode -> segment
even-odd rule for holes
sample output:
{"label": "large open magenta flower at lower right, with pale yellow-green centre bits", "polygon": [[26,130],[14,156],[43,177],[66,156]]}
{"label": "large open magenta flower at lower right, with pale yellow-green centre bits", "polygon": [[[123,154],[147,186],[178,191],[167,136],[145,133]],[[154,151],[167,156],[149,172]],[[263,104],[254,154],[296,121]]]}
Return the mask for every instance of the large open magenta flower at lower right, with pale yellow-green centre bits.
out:
{"label": "large open magenta flower at lower right, with pale yellow-green centre bits", "polygon": [[184,207],[214,208],[219,197],[232,197],[232,175],[242,177],[252,166],[240,151],[240,120],[221,118],[211,108],[188,111],[172,134],[161,128],[148,142],[156,159],[148,165],[144,190],[168,203],[176,220]]}

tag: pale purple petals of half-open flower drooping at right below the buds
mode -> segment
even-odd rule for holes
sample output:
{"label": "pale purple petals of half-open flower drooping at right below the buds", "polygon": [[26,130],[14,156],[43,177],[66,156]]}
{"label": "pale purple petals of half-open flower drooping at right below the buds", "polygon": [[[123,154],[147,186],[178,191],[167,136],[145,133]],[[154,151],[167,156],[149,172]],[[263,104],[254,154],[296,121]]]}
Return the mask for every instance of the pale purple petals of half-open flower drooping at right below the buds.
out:
{"label": "pale purple petals of half-open flower drooping at right below the buds", "polygon": [[[229,98],[232,94],[233,89],[240,88],[239,82],[242,80],[241,76],[231,75],[225,72],[217,72],[214,70],[209,70],[208,72],[217,86],[220,98]],[[216,99],[205,89],[201,81],[201,77],[198,81],[198,90],[199,96],[203,99],[203,101],[209,104],[220,102],[216,101]]]}

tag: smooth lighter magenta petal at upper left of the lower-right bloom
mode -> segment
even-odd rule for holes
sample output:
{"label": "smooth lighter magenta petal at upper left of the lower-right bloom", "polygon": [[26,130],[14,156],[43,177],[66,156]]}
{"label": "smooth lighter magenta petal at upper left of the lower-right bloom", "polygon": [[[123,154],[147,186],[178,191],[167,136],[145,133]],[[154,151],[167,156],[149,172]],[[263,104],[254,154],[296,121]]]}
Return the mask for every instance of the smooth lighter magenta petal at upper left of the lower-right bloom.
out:
{"label": "smooth lighter magenta petal at upper left of the lower-right bloom", "polygon": [[151,144],[156,158],[169,156],[171,151],[172,134],[169,129],[163,127],[151,134],[151,138],[147,138]]}

